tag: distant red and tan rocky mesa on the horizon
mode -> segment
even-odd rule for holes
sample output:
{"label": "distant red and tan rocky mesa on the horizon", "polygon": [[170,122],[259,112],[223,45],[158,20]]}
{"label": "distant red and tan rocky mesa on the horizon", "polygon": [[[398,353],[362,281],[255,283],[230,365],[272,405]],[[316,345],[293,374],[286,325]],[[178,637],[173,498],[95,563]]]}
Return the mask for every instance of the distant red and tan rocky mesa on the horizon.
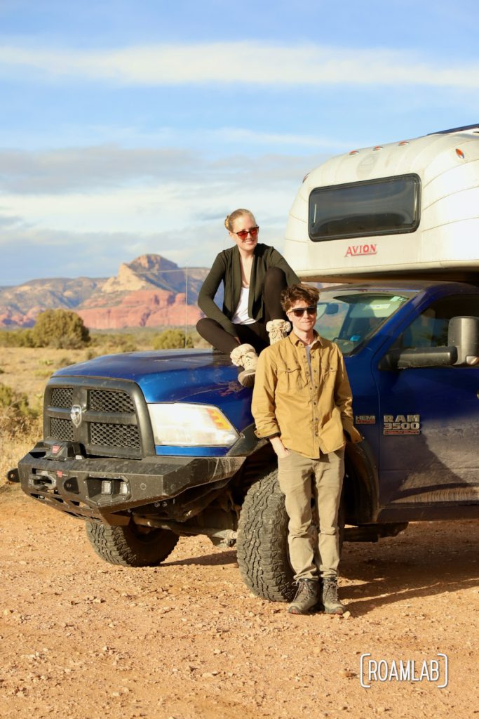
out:
{"label": "distant red and tan rocky mesa on the horizon", "polygon": [[53,278],[0,288],[0,327],[32,327],[46,309],[73,309],[90,329],[195,325],[205,267],[141,255],[111,278]]}

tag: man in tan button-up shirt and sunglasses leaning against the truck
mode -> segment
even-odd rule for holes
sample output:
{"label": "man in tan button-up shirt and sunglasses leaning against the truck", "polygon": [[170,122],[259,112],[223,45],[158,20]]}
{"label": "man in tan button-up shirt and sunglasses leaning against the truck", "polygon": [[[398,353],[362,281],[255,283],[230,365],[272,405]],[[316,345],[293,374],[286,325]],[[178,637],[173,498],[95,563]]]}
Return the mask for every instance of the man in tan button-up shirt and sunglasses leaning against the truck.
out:
{"label": "man in tan button-up shirt and sunglasses leaning against the truck", "polygon": [[[361,441],[353,426],[352,396],[343,355],[314,329],[316,288],[293,285],[282,293],[292,333],[259,357],[251,410],[256,434],[271,441],[278,482],[289,516],[289,559],[297,582],[288,611],[318,605],[343,614],[338,599],[338,511],[346,439]],[[319,517],[312,525],[311,500]]]}

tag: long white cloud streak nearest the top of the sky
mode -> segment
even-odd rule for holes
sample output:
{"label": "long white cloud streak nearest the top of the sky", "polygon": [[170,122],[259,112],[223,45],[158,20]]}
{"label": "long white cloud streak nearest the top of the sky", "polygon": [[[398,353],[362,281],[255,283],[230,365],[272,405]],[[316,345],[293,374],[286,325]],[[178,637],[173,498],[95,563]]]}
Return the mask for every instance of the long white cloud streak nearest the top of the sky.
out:
{"label": "long white cloud streak nearest the top of the sky", "polygon": [[[51,78],[76,75],[134,85],[252,83],[269,85],[424,85],[479,87],[479,65],[452,65],[410,51],[350,50],[311,43],[268,42],[149,45],[108,51],[2,47],[0,66]],[[41,77],[42,75],[40,75]]]}

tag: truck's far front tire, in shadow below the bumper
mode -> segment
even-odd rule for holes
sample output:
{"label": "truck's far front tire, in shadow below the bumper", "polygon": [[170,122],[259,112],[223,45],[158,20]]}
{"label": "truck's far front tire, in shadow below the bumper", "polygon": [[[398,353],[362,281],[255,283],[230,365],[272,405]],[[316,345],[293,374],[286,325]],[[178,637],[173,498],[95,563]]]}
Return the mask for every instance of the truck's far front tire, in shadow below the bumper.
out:
{"label": "truck's far front tire, in shadow below the bumper", "polygon": [[155,567],[175,549],[179,537],[168,529],[86,523],[86,535],[101,559],[125,567]]}

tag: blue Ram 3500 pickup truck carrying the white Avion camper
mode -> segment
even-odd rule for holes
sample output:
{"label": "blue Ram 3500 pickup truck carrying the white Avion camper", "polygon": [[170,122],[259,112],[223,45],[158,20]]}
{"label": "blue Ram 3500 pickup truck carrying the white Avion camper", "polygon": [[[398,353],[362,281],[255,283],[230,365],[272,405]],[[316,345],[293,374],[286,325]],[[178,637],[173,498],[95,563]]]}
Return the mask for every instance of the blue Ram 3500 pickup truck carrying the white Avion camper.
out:
{"label": "blue Ram 3500 pickup truck carrying the white Avion camper", "polygon": [[[456,162],[457,149],[468,157],[470,137],[450,132],[408,145],[435,144],[437,162],[437,139],[445,139]],[[477,148],[479,137],[473,140]],[[363,435],[346,448],[340,524],[348,541],[395,536],[409,521],[479,516],[478,260],[458,232],[460,261],[419,256],[417,247],[429,241],[419,232],[431,224],[427,171],[409,166],[392,174],[391,162],[383,170],[374,164],[381,150],[342,156],[341,166],[352,158],[357,170],[351,163],[345,181],[336,170],[336,182],[324,168],[319,179],[311,173],[287,229],[295,269],[330,285],[321,291],[317,331],[344,354]],[[419,154],[424,162],[424,147]],[[366,218],[350,193],[364,186]],[[322,188],[334,209],[327,217]],[[444,239],[439,227],[436,242],[449,257]],[[476,246],[477,239],[477,256]],[[238,384],[223,354],[134,352],[55,372],[45,390],[43,439],[19,462],[19,475],[27,495],[85,521],[108,562],[159,564],[180,536],[204,534],[216,546],[236,544],[256,595],[287,601],[294,593],[275,456],[256,438],[251,390]]]}

